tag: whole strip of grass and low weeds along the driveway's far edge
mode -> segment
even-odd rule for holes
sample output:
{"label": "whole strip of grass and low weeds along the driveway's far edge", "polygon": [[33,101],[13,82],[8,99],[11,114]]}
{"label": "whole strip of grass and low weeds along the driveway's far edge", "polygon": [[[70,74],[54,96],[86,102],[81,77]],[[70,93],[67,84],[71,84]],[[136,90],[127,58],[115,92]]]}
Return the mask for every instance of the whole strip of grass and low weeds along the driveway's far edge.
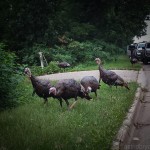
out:
{"label": "whole strip of grass and low weeds along the driveway's far edge", "polygon": [[[96,57],[95,57],[96,58]],[[71,64],[71,67],[67,68],[67,72],[73,71],[87,71],[87,70],[97,70],[98,66],[95,63],[95,58],[93,57],[90,61],[85,61],[84,63]],[[100,57],[101,58],[101,57]],[[105,57],[102,57],[105,58]],[[141,63],[136,63],[132,66],[127,55],[117,55],[112,57],[112,60],[101,59],[103,67],[110,70],[136,70],[141,69]],[[40,66],[32,66],[31,71],[34,75],[46,75],[53,74],[58,72],[64,72],[64,69],[60,69],[57,66],[56,61],[52,61],[48,66],[45,66],[43,69]]]}

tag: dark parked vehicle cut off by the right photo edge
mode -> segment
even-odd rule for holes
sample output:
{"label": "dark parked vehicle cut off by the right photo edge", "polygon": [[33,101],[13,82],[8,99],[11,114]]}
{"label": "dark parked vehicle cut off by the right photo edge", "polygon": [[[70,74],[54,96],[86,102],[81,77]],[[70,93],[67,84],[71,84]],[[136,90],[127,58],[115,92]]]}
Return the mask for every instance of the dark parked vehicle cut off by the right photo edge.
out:
{"label": "dark parked vehicle cut off by the right photo edge", "polygon": [[145,48],[143,48],[141,61],[144,64],[148,64],[148,62],[150,61],[150,42],[145,43]]}

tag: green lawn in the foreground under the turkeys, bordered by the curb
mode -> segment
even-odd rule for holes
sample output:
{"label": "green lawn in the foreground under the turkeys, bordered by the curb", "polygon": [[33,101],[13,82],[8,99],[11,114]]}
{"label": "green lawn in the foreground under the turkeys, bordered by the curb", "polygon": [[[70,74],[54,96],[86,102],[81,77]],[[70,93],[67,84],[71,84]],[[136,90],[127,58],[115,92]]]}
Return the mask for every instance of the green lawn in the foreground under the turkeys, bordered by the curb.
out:
{"label": "green lawn in the foreground under the turkeys, bordered by the curb", "polygon": [[61,108],[52,98],[44,106],[42,99],[31,96],[27,80],[23,85],[18,99],[28,102],[0,113],[0,149],[110,150],[138,86],[129,83],[128,91],[102,83],[97,98],[94,93],[91,101],[79,98],[75,108],[68,111],[64,102]]}

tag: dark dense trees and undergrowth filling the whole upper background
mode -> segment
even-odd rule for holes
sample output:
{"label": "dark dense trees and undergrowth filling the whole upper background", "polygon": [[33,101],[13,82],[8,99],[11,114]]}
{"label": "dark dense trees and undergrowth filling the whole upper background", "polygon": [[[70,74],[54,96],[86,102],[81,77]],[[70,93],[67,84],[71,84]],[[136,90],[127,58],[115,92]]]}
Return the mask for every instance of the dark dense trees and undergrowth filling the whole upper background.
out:
{"label": "dark dense trees and undergrowth filling the whole upper background", "polygon": [[[73,55],[73,63],[82,60],[80,50],[88,58],[95,51],[95,55],[98,52],[111,59],[112,47],[117,53],[118,47],[124,48],[134,36],[145,34],[144,20],[149,12],[148,0],[1,1],[0,41],[19,56],[21,64],[37,65],[39,51],[49,60],[67,61]],[[93,39],[105,41],[106,49],[86,49],[87,41],[95,45]],[[49,51],[51,48],[56,50],[56,56]],[[60,49],[63,54],[59,54]]]}

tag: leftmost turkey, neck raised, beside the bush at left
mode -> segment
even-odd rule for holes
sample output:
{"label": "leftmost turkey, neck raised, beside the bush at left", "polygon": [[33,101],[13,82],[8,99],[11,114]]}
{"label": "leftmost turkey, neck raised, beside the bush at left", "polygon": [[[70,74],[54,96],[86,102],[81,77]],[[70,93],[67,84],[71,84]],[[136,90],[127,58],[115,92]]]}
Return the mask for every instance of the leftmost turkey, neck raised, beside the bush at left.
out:
{"label": "leftmost turkey, neck raised, beside the bush at left", "polygon": [[29,68],[24,69],[24,73],[30,78],[32,86],[33,86],[33,93],[32,96],[36,93],[39,97],[44,98],[44,104],[48,102],[48,97],[54,97],[53,94],[49,94],[49,88],[51,88],[50,81],[48,80],[40,80],[37,77],[34,77],[31,74]]}

